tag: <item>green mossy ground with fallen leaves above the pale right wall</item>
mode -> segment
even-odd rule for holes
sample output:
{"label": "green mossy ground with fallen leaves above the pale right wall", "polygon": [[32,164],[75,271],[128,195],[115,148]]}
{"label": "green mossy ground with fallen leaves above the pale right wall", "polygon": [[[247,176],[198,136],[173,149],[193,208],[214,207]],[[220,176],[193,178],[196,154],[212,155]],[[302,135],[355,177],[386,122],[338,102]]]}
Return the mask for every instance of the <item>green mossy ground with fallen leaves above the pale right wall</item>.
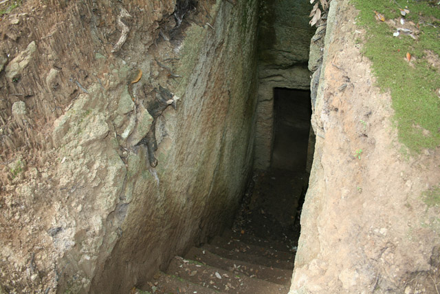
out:
{"label": "green mossy ground with fallen leaves above the pale right wall", "polygon": [[[383,91],[391,91],[399,140],[416,152],[439,146],[439,1],[353,0],[353,3],[360,10],[358,24],[366,28],[363,53],[373,62],[377,84]],[[399,8],[410,12],[403,17]],[[385,21],[380,21],[375,12],[382,14]],[[397,28],[412,29],[415,39],[408,34],[393,36]]]}

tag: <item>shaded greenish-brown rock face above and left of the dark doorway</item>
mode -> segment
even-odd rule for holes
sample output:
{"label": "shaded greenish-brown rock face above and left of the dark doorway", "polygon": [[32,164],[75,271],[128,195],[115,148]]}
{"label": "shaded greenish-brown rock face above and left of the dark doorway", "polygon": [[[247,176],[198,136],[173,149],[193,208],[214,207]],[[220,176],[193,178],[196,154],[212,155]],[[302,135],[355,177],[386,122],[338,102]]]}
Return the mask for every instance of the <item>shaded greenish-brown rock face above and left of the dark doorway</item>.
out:
{"label": "shaded greenish-brown rock face above and left of the dark doorway", "polygon": [[254,167],[267,169],[274,141],[274,87],[308,90],[310,4],[298,0],[261,0],[259,25],[259,103]]}

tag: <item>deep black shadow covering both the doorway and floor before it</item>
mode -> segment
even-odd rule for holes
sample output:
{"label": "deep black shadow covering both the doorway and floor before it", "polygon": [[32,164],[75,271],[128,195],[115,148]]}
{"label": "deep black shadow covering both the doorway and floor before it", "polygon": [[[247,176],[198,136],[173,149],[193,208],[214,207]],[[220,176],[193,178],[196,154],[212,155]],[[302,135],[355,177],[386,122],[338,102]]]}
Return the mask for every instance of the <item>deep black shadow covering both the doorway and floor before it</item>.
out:
{"label": "deep black shadow covering both the doorway and floor before it", "polygon": [[274,88],[271,167],[255,171],[234,223],[236,231],[283,242],[289,249],[298,245],[314,147],[310,120],[310,91]]}

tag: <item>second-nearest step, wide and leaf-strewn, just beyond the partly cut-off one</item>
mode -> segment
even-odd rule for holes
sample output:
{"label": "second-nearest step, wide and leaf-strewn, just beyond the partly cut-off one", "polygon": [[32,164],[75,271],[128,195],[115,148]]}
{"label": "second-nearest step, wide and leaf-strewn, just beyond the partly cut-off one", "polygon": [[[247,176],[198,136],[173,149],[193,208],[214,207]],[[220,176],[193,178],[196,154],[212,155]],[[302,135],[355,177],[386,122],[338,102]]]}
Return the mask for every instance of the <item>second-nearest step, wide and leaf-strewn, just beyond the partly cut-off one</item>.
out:
{"label": "second-nearest step, wide and leaf-strewn, just beyond the partly cut-off one", "polygon": [[231,273],[179,257],[173,258],[166,273],[168,275],[176,275],[214,291],[225,293],[274,294],[287,293],[289,291],[289,288],[285,285],[274,284],[243,274]]}

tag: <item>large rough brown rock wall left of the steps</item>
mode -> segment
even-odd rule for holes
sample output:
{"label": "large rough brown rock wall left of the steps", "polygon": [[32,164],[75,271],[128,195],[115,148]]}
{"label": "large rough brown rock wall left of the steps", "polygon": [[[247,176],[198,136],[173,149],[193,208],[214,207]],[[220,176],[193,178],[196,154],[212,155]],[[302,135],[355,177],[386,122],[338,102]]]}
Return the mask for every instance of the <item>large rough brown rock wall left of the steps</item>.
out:
{"label": "large rough brown rock wall left of the steps", "polygon": [[[230,222],[253,159],[256,4],[26,1],[5,16],[4,291],[124,293]],[[151,134],[156,167],[136,145]]]}

